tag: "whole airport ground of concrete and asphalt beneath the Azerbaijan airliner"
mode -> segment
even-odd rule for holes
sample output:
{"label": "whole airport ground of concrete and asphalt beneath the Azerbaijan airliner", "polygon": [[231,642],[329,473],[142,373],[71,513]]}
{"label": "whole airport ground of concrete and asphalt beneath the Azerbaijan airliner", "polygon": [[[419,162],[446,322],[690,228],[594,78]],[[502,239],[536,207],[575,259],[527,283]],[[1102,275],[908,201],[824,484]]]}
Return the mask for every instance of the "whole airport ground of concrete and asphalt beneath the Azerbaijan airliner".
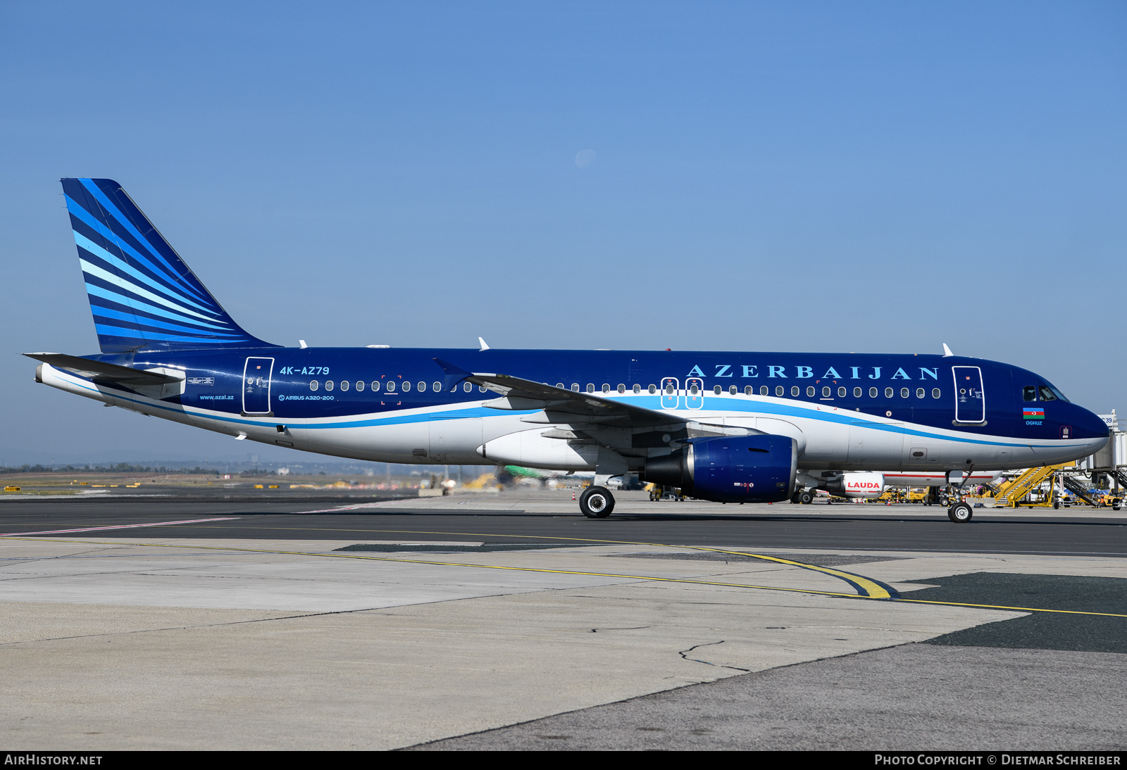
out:
{"label": "whole airport ground of concrete and asphalt beneath the Azerbaijan airliner", "polygon": [[1127,516],[618,496],[605,521],[548,491],[5,500],[0,732],[65,750],[1127,743]]}

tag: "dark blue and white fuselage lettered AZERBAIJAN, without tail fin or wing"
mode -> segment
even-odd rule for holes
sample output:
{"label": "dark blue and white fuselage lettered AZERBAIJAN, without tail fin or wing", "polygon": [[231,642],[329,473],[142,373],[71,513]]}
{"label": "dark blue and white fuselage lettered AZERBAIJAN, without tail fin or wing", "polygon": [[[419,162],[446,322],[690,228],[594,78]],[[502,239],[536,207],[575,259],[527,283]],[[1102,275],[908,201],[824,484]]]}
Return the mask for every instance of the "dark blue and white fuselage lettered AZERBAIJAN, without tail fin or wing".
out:
{"label": "dark blue and white fuselage lettered AZERBAIJAN, without tail fin or wing", "polygon": [[[252,440],[397,463],[485,464],[480,446],[536,429],[536,410],[498,409],[497,393],[452,380],[435,359],[678,419],[789,432],[801,468],[1027,467],[1084,457],[1109,435],[1044,377],[960,357],[255,348],[91,358],[183,370],[183,393],[153,397],[65,373],[56,374],[66,384],[50,384]],[[625,438],[618,449],[646,457],[655,446]]]}

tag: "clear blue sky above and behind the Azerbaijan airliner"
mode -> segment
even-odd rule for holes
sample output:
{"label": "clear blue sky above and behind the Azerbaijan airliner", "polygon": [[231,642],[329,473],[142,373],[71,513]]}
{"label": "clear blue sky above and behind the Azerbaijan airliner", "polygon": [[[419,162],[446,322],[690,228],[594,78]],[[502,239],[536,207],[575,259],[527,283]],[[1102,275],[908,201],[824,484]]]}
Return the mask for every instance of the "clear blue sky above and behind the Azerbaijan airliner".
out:
{"label": "clear blue sky above and behind the Azerbaijan airliner", "polygon": [[64,176],[122,182],[274,342],[947,342],[1127,409],[1125,33],[1115,2],[3,3],[0,457],[241,449],[32,382],[20,352],[97,351]]}

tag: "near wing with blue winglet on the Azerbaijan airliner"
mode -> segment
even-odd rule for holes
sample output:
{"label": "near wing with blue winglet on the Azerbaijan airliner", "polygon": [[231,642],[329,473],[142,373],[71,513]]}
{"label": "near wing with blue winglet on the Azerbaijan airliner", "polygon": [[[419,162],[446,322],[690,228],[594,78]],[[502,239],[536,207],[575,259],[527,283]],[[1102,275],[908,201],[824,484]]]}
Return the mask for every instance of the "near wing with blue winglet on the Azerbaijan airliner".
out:
{"label": "near wing with blue winglet on the Azerbaijan airliner", "polygon": [[[680,437],[746,436],[762,431],[696,422],[673,412],[658,412],[618,399],[594,393],[568,391],[554,385],[523,379],[506,374],[465,371],[438,358],[435,362],[446,371],[446,388],[461,382],[483,385],[500,394],[500,399],[483,405],[500,410],[543,410],[543,417],[525,418],[525,422],[567,423],[573,426],[668,430]],[[682,433],[682,431],[685,431]]]}

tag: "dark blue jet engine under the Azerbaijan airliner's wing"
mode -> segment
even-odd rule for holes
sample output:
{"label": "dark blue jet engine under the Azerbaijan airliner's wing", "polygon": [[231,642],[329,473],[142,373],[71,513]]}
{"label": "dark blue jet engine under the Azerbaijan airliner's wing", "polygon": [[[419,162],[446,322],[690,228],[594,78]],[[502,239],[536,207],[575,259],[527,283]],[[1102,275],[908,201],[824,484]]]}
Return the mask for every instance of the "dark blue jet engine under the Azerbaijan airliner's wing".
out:
{"label": "dark blue jet engine under the Azerbaijan airliner's wing", "polygon": [[779,502],[795,491],[797,466],[789,436],[722,436],[689,439],[684,449],[650,457],[639,475],[700,500]]}

